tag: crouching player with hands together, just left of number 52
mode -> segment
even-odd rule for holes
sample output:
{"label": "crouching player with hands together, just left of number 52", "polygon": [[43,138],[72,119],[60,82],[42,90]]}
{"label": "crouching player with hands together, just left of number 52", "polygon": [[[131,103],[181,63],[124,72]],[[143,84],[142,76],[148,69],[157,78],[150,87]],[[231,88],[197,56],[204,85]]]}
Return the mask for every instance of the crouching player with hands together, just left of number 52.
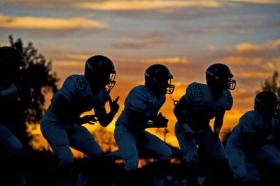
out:
{"label": "crouching player with hands together, just left of number 52", "polygon": [[[125,161],[117,185],[136,185],[133,175],[138,169],[137,149],[151,152],[157,159],[153,166],[154,185],[162,185],[172,150],[157,136],[145,131],[151,127],[167,127],[168,120],[158,113],[165,103],[165,94],[174,92],[173,76],[162,64],[153,64],[146,69],[145,85],[134,87],[125,99],[125,108],[116,121],[114,137]],[[121,181],[123,183],[121,183]]]}

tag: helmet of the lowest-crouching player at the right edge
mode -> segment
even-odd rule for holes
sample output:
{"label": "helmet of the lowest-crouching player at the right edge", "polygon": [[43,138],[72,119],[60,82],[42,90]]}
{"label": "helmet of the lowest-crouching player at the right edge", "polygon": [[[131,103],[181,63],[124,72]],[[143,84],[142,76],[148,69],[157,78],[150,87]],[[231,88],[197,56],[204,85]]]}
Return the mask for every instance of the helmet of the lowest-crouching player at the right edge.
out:
{"label": "helmet of the lowest-crouching player at the right edge", "polygon": [[259,92],[255,96],[254,108],[265,117],[274,117],[279,113],[279,98],[270,91]]}

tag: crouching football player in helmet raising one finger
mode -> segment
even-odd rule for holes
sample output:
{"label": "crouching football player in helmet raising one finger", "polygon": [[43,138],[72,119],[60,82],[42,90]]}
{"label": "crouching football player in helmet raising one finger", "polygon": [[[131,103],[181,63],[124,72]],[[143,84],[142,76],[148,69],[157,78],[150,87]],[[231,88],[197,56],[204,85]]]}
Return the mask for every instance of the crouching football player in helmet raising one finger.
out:
{"label": "crouching football player in helmet raising one finger", "polygon": [[[116,81],[113,62],[108,57],[95,55],[85,62],[84,75],[73,74],[66,78],[62,88],[52,97],[50,106],[41,120],[41,131],[59,159],[59,185],[69,185],[74,157],[70,146],[86,157],[79,162],[80,173],[76,185],[86,185],[90,169],[102,162],[102,148],[81,124],[108,126],[119,109],[109,93]],[[109,101],[110,112],[105,104]],[[80,117],[85,111],[95,115]]]}

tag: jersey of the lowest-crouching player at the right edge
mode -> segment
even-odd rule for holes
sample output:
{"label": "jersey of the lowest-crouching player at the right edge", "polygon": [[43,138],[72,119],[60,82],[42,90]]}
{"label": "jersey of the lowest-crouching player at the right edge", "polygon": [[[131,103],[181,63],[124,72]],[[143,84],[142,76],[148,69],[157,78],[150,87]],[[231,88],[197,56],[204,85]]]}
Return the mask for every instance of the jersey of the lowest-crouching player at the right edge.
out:
{"label": "jersey of the lowest-crouching player at the right edge", "polygon": [[238,124],[232,129],[232,134],[228,138],[228,143],[239,148],[244,148],[244,138],[242,132],[272,132],[272,124],[267,124],[262,115],[256,110],[250,110],[242,115]]}

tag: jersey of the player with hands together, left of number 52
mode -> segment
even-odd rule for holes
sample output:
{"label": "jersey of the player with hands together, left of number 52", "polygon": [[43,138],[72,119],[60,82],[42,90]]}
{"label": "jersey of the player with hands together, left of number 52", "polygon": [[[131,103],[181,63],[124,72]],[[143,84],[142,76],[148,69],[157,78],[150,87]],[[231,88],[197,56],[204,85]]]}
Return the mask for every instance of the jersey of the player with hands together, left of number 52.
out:
{"label": "jersey of the player with hands together, left of number 52", "polygon": [[151,89],[145,85],[134,87],[125,99],[125,108],[118,117],[116,124],[127,125],[130,110],[137,110],[144,113],[146,117],[157,116],[158,111],[165,103],[165,95],[157,98]]}

